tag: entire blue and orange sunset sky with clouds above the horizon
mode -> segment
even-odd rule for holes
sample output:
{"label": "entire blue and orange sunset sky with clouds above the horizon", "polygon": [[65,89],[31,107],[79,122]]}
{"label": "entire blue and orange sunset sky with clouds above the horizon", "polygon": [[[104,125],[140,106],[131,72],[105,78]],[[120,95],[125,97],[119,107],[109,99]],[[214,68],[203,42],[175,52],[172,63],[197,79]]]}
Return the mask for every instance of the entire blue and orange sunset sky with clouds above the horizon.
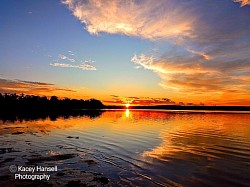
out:
{"label": "entire blue and orange sunset sky with clouds above the horizon", "polygon": [[249,0],[1,0],[0,92],[250,105]]}

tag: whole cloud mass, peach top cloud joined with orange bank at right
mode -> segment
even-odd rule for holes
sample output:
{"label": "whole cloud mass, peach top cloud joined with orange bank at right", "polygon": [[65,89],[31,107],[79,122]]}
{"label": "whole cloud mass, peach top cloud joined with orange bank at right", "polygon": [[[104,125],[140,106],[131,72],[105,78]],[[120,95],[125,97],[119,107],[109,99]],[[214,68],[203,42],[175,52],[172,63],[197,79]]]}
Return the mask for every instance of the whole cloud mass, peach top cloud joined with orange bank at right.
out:
{"label": "whole cloud mass, peach top cloud joined with orange bank at right", "polygon": [[159,75],[159,85],[172,95],[250,103],[249,0],[62,2],[91,34],[155,41],[157,52],[135,54],[131,61]]}

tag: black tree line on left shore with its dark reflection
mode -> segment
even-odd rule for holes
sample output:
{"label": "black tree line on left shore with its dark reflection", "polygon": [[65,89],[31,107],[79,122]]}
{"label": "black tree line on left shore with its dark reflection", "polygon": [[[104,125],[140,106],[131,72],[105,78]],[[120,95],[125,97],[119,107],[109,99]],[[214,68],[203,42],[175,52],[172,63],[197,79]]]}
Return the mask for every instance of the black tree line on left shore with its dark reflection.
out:
{"label": "black tree line on left shore with its dark reflection", "polygon": [[102,112],[98,109],[103,108],[105,106],[102,102],[96,99],[59,99],[57,96],[49,99],[45,96],[0,93],[0,119],[4,121],[46,119],[46,117],[56,119],[59,116],[67,118],[82,115],[94,118],[101,115]]}

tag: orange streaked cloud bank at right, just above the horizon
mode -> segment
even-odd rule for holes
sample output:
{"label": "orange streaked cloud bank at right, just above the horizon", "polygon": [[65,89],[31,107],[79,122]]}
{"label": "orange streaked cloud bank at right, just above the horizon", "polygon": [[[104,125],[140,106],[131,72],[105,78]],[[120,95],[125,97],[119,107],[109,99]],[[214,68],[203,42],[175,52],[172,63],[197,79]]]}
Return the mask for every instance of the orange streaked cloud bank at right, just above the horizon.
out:
{"label": "orange streaked cloud bank at right, just above the horizon", "polygon": [[[155,59],[141,54],[131,58],[137,66],[155,72],[161,81],[159,85],[168,90],[174,100],[185,95],[184,102],[250,104],[249,63],[246,61],[218,62],[196,57],[176,59]],[[184,98],[184,97],[182,97]],[[217,98],[218,101],[212,102]]]}

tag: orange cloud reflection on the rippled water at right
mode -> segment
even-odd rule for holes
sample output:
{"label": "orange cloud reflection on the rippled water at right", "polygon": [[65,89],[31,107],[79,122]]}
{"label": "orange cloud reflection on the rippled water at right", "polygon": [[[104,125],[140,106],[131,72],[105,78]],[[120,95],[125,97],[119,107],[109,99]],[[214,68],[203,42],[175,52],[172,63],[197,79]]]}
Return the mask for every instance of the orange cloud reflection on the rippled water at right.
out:
{"label": "orange cloud reflection on the rippled water at right", "polygon": [[162,143],[143,152],[144,159],[166,161],[170,157],[186,157],[186,153],[216,157],[211,149],[240,146],[243,142],[250,145],[250,114],[177,114],[159,137]]}

